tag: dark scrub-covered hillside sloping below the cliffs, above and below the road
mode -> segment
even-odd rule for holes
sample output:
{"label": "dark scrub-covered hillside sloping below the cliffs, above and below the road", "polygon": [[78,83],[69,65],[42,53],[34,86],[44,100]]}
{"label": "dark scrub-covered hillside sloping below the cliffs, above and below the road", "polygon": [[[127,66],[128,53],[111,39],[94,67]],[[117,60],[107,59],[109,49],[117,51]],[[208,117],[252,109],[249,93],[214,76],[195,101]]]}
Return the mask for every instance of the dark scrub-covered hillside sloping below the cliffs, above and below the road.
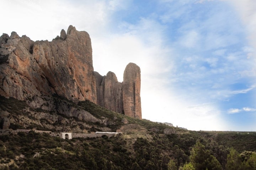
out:
{"label": "dark scrub-covered hillside sloping below the cliffs, above and below the road", "polygon": [[[112,112],[90,101],[74,103],[54,95],[55,110],[33,109],[25,101],[0,97],[1,113],[7,114],[11,129],[36,129],[69,132],[122,130],[108,138],[64,140],[34,131],[3,134],[1,130],[1,169],[168,169],[171,163],[182,167],[190,162],[197,141],[220,163],[227,164],[230,147],[241,155],[256,151],[255,132],[187,131],[165,124],[140,120]],[[67,117],[58,110],[65,104],[91,114],[85,119]],[[41,118],[44,115],[46,118]],[[50,121],[47,115],[61,121]],[[91,122],[90,120],[97,120]],[[125,120],[125,121],[124,121]],[[130,124],[132,128],[124,128]],[[123,128],[122,128],[123,127]],[[172,134],[164,130],[172,129]],[[246,152],[245,152],[246,151]],[[250,152],[248,152],[250,151]]]}

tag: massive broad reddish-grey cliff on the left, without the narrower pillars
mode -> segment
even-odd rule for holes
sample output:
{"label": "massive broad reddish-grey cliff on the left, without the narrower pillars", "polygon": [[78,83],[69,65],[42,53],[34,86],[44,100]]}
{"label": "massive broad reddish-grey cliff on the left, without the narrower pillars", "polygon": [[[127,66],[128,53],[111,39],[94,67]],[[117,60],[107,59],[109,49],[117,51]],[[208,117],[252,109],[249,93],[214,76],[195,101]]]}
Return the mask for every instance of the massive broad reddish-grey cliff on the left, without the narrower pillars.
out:
{"label": "massive broad reddish-grey cliff on the left, without the narrower pillars", "polygon": [[91,39],[69,26],[60,38],[32,41],[12,32],[0,37],[0,95],[26,100],[58,94],[96,103]]}

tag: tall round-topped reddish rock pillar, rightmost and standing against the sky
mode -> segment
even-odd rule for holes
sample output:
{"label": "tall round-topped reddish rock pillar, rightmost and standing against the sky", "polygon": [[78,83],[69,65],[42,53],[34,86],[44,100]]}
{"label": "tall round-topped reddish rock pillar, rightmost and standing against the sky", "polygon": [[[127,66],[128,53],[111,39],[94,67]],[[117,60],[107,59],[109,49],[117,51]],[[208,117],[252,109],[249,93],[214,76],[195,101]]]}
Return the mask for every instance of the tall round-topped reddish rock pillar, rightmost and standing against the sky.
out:
{"label": "tall round-topped reddish rock pillar, rightmost and standing against the sky", "polygon": [[129,63],[123,76],[123,108],[124,114],[142,119],[140,102],[140,68]]}

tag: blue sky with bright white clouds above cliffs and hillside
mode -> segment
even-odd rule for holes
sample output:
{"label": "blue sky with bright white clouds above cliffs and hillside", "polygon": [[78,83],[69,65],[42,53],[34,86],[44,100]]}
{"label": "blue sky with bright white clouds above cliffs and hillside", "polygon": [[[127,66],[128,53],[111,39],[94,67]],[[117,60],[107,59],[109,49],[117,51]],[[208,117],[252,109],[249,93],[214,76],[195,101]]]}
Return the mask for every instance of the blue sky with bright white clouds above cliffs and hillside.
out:
{"label": "blue sky with bright white clouds above cliffs and hillside", "polygon": [[1,0],[0,34],[90,34],[94,70],[141,70],[142,118],[256,131],[255,0]]}

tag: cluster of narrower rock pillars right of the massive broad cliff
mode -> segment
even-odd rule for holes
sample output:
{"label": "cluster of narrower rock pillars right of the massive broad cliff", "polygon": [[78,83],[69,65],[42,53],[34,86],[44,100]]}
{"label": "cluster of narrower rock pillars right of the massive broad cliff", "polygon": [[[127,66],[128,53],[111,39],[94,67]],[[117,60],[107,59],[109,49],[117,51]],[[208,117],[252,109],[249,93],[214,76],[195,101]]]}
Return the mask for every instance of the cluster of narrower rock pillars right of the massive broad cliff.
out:
{"label": "cluster of narrower rock pillars right of the massive broad cliff", "polygon": [[142,119],[140,103],[140,68],[129,63],[124,71],[124,81],[118,82],[113,72],[101,76],[97,72],[97,104],[114,112]]}

